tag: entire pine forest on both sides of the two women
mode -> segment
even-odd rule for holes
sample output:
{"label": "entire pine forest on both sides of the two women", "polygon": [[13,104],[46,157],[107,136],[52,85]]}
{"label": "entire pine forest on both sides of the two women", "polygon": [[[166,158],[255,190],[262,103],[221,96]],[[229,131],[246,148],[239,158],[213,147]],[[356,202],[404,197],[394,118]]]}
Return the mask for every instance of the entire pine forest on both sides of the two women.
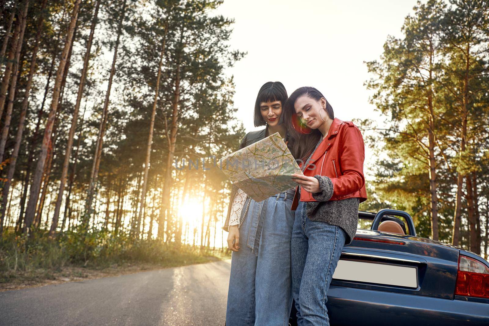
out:
{"label": "entire pine forest on both sides of the two women", "polygon": [[[175,168],[245,134],[226,71],[246,52],[221,4],[0,0],[0,271],[223,250],[230,182]],[[365,58],[384,122],[352,119],[377,158],[360,209],[405,210],[422,237],[487,259],[489,4],[406,15]]]}

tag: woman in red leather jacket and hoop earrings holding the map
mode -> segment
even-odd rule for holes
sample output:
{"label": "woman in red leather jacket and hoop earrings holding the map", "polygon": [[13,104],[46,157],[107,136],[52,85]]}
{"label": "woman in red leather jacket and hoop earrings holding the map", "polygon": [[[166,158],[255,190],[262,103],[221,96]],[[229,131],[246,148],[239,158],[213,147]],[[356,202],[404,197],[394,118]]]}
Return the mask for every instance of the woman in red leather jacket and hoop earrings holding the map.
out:
{"label": "woman in red leather jacket and hoop earrings holding the map", "polygon": [[367,199],[360,130],[334,118],[333,107],[314,87],[295,90],[284,105],[283,118],[304,175],[292,210],[292,294],[297,325],[330,325],[327,293],[344,245],[352,242],[358,205]]}

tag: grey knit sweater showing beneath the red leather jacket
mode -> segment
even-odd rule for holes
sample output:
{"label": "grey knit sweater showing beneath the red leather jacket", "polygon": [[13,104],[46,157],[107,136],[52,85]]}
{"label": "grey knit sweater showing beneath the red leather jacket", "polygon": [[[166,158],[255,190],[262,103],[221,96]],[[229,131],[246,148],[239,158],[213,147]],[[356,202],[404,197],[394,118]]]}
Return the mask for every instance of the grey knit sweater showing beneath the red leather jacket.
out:
{"label": "grey knit sweater showing beneath the red leather jacket", "polygon": [[[312,151],[316,150],[317,146],[322,142],[322,137]],[[312,153],[302,167],[304,172],[307,164],[311,160]],[[358,224],[358,206],[360,201],[358,198],[346,198],[339,201],[330,201],[333,197],[333,182],[327,176],[316,174],[314,178],[319,181],[321,192],[312,194],[312,198],[317,202],[306,202],[306,214],[311,221],[326,222],[328,224],[341,227],[347,234],[345,245],[349,245],[355,237],[356,227]],[[301,187],[299,187],[300,198]]]}

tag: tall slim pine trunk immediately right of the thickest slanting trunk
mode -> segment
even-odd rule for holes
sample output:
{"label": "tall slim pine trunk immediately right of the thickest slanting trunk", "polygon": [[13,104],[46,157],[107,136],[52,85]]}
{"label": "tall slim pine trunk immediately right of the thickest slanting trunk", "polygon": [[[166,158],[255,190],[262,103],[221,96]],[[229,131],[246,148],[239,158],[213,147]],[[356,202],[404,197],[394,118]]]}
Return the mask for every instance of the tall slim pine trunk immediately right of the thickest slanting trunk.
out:
{"label": "tall slim pine trunk immediately right of the thickest slanting trunk", "polygon": [[82,97],[83,97],[83,89],[85,87],[85,78],[87,76],[87,70],[88,70],[89,61],[90,61],[90,50],[91,50],[91,45],[92,45],[92,41],[93,41],[93,33],[95,31],[95,26],[97,24],[97,16],[98,16],[98,9],[100,6],[100,1],[101,0],[97,0],[97,3],[95,4],[95,11],[93,13],[93,19],[92,19],[92,23],[90,26],[90,35],[89,35],[89,39],[87,42],[87,51],[85,53],[85,61],[83,63],[82,76],[80,77],[80,84],[78,85],[78,94],[76,97],[76,103],[75,103],[75,109],[73,112],[73,117],[71,119],[71,127],[69,129],[68,142],[67,142],[66,153],[65,153],[65,160],[63,162],[63,170],[61,172],[60,189],[59,189],[58,197],[56,200],[56,206],[54,208],[53,222],[52,222],[51,228],[49,230],[50,235],[53,235],[54,231],[56,231],[56,228],[58,227],[58,219],[59,219],[59,213],[60,213],[60,208],[61,208],[61,202],[63,200],[63,193],[65,191],[65,183],[66,183],[66,179],[67,179],[69,159],[71,157],[71,147],[73,146],[73,137],[74,137],[75,130],[76,130],[76,123],[78,122],[78,111],[80,110],[80,103],[81,103]]}

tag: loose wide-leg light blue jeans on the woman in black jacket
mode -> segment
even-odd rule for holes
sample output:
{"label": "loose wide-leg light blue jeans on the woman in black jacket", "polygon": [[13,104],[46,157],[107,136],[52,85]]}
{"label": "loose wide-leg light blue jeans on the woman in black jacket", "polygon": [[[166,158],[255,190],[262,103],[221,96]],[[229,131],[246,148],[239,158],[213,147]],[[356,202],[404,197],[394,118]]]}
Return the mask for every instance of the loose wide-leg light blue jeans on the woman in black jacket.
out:
{"label": "loose wide-leg light blue jeans on the woman in black jacket", "polygon": [[259,203],[246,200],[251,202],[240,227],[240,249],[231,256],[227,326],[289,325],[292,199],[282,192]]}

